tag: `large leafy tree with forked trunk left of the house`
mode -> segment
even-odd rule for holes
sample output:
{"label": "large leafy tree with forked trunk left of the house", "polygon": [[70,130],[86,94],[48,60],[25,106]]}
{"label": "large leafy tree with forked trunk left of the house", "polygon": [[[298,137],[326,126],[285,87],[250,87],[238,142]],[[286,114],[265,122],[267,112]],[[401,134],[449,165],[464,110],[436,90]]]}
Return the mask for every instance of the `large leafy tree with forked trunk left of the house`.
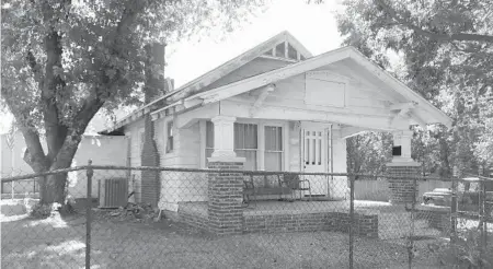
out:
{"label": "large leafy tree with forked trunk left of the house", "polygon": [[[144,45],[230,28],[263,0],[3,1],[1,105],[13,114],[35,173],[67,168],[100,109],[140,104]],[[47,152],[41,143],[46,139]],[[66,175],[42,183],[65,202]]]}

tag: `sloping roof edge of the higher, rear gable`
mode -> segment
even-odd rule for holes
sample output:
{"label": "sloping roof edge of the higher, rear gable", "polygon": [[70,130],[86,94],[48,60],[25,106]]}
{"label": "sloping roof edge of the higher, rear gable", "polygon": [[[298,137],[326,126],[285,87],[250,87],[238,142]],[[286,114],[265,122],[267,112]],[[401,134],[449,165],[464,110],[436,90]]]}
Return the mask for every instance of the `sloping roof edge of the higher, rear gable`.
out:
{"label": "sloping roof edge of the higher, rear gable", "polygon": [[[167,102],[168,104],[164,104],[164,106],[169,106],[170,104],[174,104],[176,101],[182,100],[200,89],[210,85],[215,81],[219,80],[220,78],[231,73],[232,71],[237,70],[238,68],[242,67],[243,65],[250,62],[251,60],[257,58],[257,57],[265,57],[264,54],[268,49],[275,48],[276,45],[279,43],[287,42],[289,45],[291,45],[305,59],[308,59],[312,57],[312,54],[298,40],[293,36],[289,32],[283,31],[279,34],[271,37],[270,39],[256,45],[255,47],[251,48],[250,50],[232,58],[231,60],[220,65],[219,67],[208,71],[207,73],[187,82],[186,84],[180,86],[179,89],[152,101],[151,103],[136,109],[135,112],[127,115],[122,120],[117,121],[112,130],[115,130],[117,128],[121,128],[138,118],[140,118],[146,113],[149,113],[151,110],[151,107],[156,106],[158,103],[162,103],[164,100],[170,100],[171,102]],[[102,132],[107,132],[108,130],[104,130]]]}

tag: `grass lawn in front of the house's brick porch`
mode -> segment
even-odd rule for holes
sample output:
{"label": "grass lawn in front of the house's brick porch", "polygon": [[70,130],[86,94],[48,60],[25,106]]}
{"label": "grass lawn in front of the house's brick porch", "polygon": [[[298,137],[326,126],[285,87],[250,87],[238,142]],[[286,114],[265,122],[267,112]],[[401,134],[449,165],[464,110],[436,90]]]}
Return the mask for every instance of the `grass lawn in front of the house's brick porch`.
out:
{"label": "grass lawn in front of the house's brick porch", "polygon": [[[2,212],[2,267],[83,268],[84,221],[80,214],[33,220]],[[95,217],[91,268],[347,268],[348,239],[332,232],[216,237],[168,220],[146,224]],[[357,238],[355,268],[408,268],[404,243]],[[415,268],[437,268],[437,262],[423,252]]]}

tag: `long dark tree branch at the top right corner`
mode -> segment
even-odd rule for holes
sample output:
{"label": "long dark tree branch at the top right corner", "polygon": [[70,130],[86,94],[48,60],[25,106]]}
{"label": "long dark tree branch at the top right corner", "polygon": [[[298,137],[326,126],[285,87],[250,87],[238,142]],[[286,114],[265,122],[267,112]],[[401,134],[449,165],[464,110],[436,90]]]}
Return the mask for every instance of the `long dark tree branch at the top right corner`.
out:
{"label": "long dark tree branch at the top right corner", "polygon": [[426,36],[432,40],[437,42],[486,42],[493,43],[493,36],[490,35],[480,35],[480,34],[468,34],[468,33],[457,33],[457,34],[440,34],[433,33],[429,31],[425,31],[422,27],[414,25],[412,22],[406,21],[392,7],[386,3],[385,0],[374,0],[376,4],[383,9],[383,11],[390,15],[393,20],[395,20],[401,25],[414,31],[414,33]]}

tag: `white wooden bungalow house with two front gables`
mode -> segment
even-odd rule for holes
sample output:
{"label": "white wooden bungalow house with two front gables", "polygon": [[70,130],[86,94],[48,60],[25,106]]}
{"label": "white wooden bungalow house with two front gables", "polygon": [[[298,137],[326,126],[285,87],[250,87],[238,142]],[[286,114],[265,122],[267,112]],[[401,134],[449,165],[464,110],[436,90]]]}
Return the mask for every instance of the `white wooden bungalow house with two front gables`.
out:
{"label": "white wooden bungalow house with two front gables", "polygon": [[[152,120],[161,166],[207,168],[208,157],[226,156],[244,157],[248,171],[320,173],[345,173],[345,139],[362,131],[394,132],[394,145],[401,147],[394,163],[405,164],[412,163],[410,126],[451,124],[443,112],[354,47],[312,56],[288,32],[104,130],[130,138],[131,166],[145,165],[146,117]],[[205,174],[163,172],[158,183],[140,179],[140,172],[134,174],[134,188],[141,195],[137,200],[147,199],[161,209],[177,210],[181,201],[207,200]],[[312,195],[342,195],[330,180],[313,180]],[[157,196],[146,198],[146,191],[157,186]],[[190,195],[186,186],[200,190]]]}

